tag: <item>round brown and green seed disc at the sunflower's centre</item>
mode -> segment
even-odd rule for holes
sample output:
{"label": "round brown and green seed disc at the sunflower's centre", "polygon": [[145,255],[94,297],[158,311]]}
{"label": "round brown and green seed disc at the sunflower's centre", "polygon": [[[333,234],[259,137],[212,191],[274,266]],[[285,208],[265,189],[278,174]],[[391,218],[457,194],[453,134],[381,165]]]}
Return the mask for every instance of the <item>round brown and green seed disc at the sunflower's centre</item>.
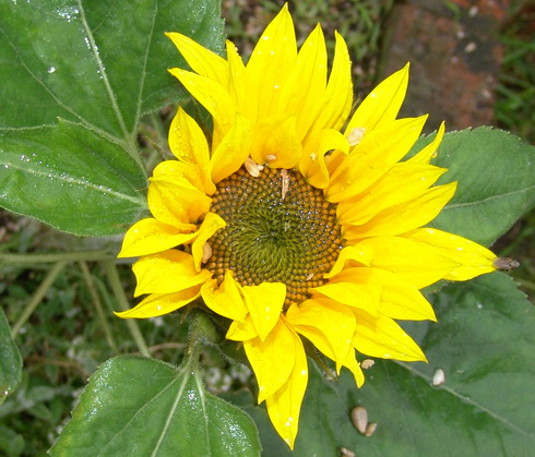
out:
{"label": "round brown and green seed disc at the sunflower's centre", "polygon": [[286,285],[286,304],[324,282],[342,249],[335,205],[298,172],[238,170],[217,184],[211,212],[227,226],[209,241],[207,269],[219,281],[234,272],[242,286]]}

